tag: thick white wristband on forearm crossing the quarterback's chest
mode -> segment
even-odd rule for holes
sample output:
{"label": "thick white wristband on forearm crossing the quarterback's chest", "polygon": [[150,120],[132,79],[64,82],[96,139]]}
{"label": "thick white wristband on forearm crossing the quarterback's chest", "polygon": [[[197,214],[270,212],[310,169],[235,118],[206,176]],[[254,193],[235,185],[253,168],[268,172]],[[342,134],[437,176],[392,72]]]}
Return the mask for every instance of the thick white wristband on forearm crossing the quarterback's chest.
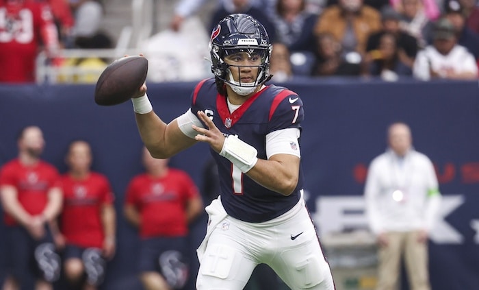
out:
{"label": "thick white wristband on forearm crossing the quarterback's chest", "polygon": [[258,162],[257,149],[239,140],[237,135],[229,135],[224,139],[220,156],[228,159],[243,173],[250,171]]}

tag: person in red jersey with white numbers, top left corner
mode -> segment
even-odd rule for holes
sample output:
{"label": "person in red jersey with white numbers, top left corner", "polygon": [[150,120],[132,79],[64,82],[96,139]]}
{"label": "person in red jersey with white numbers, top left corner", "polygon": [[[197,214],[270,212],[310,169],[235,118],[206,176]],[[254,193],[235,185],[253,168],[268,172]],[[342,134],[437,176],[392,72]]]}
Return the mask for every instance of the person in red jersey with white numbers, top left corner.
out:
{"label": "person in red jersey with white numbers, top left corner", "polygon": [[49,5],[0,0],[0,82],[34,82],[39,51],[54,56],[59,40]]}

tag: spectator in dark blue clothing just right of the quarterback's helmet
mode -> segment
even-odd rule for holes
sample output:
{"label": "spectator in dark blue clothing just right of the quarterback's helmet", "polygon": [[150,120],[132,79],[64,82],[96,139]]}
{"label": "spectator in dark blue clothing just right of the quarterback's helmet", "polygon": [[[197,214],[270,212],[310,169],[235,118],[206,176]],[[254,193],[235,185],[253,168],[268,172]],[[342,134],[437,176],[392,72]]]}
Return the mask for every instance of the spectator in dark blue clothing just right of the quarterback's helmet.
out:
{"label": "spectator in dark blue clothing just right of the quarterback's helmet", "polygon": [[306,9],[306,0],[277,0],[273,24],[278,41],[287,45],[291,53],[315,51],[313,30],[317,21],[318,15]]}

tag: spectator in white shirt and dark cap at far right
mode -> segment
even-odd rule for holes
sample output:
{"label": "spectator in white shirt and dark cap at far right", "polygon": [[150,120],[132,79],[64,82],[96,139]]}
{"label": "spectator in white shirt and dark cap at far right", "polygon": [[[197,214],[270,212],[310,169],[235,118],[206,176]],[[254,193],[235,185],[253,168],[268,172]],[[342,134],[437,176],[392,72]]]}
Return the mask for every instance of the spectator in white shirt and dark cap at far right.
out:
{"label": "spectator in white shirt and dark cap at far right", "polygon": [[474,56],[457,44],[456,29],[448,19],[437,21],[432,36],[432,45],[417,53],[413,67],[415,77],[420,80],[474,80],[478,77]]}

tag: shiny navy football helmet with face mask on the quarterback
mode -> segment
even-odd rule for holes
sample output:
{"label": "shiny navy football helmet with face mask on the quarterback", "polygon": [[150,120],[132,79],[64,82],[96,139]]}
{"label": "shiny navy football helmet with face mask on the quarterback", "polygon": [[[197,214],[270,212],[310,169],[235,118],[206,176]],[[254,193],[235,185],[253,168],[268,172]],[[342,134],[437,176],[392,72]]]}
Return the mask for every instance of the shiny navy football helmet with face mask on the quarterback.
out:
{"label": "shiny navy football helmet with face mask on the quarterback", "polygon": [[[211,32],[209,49],[211,72],[239,95],[253,93],[257,86],[270,79],[270,38],[263,25],[250,15],[231,14],[222,19]],[[240,80],[233,80],[230,65],[224,62],[224,57],[238,52],[255,54],[261,58],[255,82],[242,83]]]}

